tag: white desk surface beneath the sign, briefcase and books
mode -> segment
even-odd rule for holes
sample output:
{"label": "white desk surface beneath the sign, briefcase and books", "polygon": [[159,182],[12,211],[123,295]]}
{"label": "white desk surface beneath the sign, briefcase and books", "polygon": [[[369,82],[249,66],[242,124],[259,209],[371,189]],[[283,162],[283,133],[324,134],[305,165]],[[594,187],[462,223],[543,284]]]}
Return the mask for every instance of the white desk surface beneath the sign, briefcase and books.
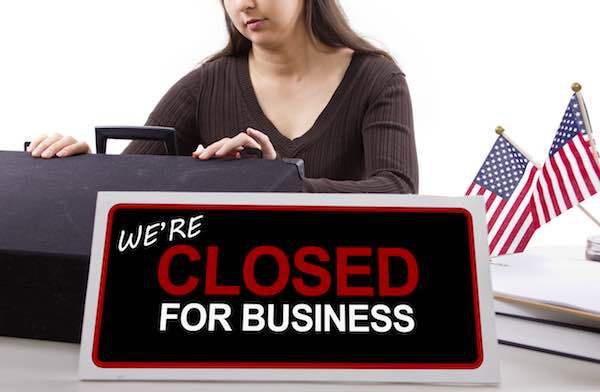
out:
{"label": "white desk surface beneath the sign, briefcase and books", "polygon": [[498,387],[241,382],[79,381],[79,345],[0,337],[0,391],[600,391],[600,365],[500,345]]}

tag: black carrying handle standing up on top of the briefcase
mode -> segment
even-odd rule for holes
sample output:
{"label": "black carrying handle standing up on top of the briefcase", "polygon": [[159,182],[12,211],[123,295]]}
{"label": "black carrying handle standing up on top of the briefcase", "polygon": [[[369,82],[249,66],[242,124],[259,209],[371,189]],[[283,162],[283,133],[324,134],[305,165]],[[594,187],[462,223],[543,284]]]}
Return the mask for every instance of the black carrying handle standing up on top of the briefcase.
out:
{"label": "black carrying handle standing up on top of the briefcase", "polygon": [[177,155],[175,128],[171,127],[98,126],[96,153],[106,154],[108,139],[160,140],[165,143],[168,155]]}

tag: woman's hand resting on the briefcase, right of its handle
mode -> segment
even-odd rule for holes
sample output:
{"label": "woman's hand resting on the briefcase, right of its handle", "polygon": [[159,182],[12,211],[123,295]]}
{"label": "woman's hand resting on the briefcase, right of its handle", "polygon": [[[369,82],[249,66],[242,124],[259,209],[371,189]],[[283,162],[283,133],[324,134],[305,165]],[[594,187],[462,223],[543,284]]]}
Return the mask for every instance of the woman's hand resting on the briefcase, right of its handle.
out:
{"label": "woman's hand resting on the briefcase, right of its handle", "polygon": [[240,151],[246,147],[253,147],[262,150],[263,159],[275,159],[277,153],[271,144],[269,137],[264,133],[253,128],[247,128],[246,132],[240,132],[236,136],[223,138],[204,148],[202,144],[192,153],[196,159],[210,158],[239,158]]}

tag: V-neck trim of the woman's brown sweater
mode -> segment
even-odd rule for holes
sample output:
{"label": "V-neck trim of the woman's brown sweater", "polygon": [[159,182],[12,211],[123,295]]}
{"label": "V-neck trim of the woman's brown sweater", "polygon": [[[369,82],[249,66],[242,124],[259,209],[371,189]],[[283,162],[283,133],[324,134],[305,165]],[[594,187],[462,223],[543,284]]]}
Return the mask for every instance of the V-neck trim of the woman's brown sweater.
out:
{"label": "V-neck trim of the woman's brown sweater", "polygon": [[357,63],[357,57],[358,53],[353,52],[342,80],[334,90],[332,96],[321,113],[319,113],[317,116],[315,122],[302,135],[298,136],[297,138],[290,139],[282,134],[279,129],[277,129],[277,127],[262,110],[262,107],[258,102],[256,91],[254,90],[254,86],[252,84],[252,79],[250,77],[248,55],[246,54],[239,56],[237,61],[239,85],[242,90],[242,95],[246,99],[246,104],[248,105],[248,109],[252,115],[252,118],[258,122],[256,124],[248,124],[248,126],[256,127],[256,129],[259,131],[264,132],[273,141],[276,149],[277,147],[283,148],[287,154],[295,154],[304,146],[316,141],[323,130],[327,128],[326,124],[332,119],[333,115],[339,108],[339,102],[343,98],[344,92],[347,90],[346,86],[352,80],[354,68]]}

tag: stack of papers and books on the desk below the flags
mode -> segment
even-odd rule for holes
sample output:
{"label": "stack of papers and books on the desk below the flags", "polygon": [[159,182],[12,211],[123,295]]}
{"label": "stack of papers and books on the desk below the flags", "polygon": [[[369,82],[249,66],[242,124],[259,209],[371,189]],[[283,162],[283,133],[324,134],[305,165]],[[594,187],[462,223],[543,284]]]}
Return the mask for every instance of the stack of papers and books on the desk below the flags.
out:
{"label": "stack of papers and books on the desk below the flags", "polygon": [[501,343],[600,362],[600,263],[546,248],[491,263]]}

